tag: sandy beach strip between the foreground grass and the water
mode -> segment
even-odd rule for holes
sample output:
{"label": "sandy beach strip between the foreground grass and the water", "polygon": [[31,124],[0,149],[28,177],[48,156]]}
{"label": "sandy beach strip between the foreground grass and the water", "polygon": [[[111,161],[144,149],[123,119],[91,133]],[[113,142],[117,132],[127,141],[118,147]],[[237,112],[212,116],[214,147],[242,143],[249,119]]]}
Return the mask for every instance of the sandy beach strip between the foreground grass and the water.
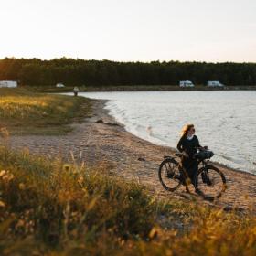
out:
{"label": "sandy beach strip between the foreground grass and the water", "polygon": [[[126,132],[123,125],[116,123],[103,109],[104,104],[105,101],[93,101],[91,117],[83,123],[71,124],[71,133],[59,136],[16,135],[10,136],[7,143],[14,149],[26,148],[31,154],[47,157],[61,154],[69,159],[74,157],[92,167],[103,165],[110,175],[135,180],[148,187],[156,197],[197,199],[227,210],[256,210],[256,176],[221,165],[219,168],[227,178],[228,188],[214,203],[204,201],[196,194],[187,195],[185,187],[180,187],[175,193],[165,191],[158,180],[158,167],[163,156],[173,155],[174,150],[149,143]],[[4,141],[1,140],[0,143],[3,144]]]}

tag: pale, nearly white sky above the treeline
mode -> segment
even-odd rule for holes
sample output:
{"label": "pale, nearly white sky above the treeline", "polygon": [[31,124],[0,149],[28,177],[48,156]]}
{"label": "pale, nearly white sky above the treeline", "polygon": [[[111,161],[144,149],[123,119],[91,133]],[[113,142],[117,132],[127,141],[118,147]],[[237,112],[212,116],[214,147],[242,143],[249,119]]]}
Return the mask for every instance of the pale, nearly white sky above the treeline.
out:
{"label": "pale, nearly white sky above the treeline", "polygon": [[0,0],[0,59],[256,62],[256,0]]}

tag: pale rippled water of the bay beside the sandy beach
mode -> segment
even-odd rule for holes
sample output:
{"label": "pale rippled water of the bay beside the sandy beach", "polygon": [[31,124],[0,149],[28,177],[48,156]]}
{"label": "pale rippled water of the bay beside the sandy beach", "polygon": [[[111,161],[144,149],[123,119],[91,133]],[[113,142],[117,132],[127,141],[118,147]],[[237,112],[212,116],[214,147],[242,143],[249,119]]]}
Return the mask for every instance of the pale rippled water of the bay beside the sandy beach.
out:
{"label": "pale rippled water of the bay beside the sandy beach", "polygon": [[213,161],[256,174],[256,91],[87,92],[110,100],[106,109],[127,131],[176,147],[186,123],[196,125]]}

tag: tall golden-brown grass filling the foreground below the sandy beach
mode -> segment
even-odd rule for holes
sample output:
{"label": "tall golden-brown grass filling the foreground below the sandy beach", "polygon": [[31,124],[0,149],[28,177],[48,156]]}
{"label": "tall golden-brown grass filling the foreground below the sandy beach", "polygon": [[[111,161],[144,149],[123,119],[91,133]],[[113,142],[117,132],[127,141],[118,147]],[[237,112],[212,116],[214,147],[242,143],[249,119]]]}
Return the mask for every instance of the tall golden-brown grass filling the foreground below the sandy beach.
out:
{"label": "tall golden-brown grass filling the foreground below the sandy beach", "polygon": [[255,255],[256,219],[0,148],[1,255]]}

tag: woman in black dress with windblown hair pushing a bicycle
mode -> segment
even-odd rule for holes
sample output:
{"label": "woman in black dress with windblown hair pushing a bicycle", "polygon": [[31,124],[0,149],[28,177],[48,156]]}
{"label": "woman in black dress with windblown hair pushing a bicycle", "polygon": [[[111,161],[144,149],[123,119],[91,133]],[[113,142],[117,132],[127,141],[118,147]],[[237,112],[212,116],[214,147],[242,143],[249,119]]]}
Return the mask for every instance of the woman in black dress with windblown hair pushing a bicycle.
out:
{"label": "woman in black dress with windblown hair pushing a bicycle", "polygon": [[179,152],[183,153],[182,165],[187,171],[187,175],[194,184],[194,176],[198,169],[197,159],[193,156],[197,153],[197,148],[202,148],[195,135],[194,124],[187,124],[181,133],[181,138],[177,144]]}

